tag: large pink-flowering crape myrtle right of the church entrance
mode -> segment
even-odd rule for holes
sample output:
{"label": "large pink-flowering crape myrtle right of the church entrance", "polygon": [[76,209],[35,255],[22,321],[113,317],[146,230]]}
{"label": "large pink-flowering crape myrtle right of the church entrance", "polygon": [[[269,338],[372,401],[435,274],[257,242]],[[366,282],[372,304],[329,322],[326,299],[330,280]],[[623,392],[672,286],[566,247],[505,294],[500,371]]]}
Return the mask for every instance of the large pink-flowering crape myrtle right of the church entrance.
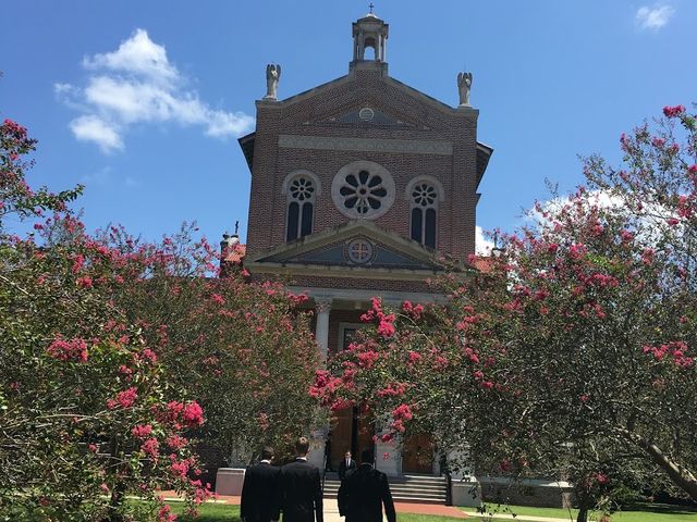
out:
{"label": "large pink-flowering crape myrtle right of the church entrance", "polygon": [[310,394],[387,415],[384,438],[468,445],[478,473],[568,480],[580,521],[651,481],[697,499],[695,119],[664,113],[622,137],[622,169],[586,160],[590,189],[445,277],[447,307],[376,300]]}

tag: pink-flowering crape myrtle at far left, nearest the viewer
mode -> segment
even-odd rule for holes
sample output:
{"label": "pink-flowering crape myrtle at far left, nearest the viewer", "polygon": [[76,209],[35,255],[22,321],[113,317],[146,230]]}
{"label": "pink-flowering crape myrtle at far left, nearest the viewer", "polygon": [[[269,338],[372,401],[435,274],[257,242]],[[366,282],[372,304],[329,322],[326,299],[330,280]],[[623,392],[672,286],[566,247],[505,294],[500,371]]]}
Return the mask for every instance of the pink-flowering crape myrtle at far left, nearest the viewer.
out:
{"label": "pink-flowering crape myrtle at far left, nearest the viewer", "polygon": [[[65,207],[80,187],[29,188],[34,147],[0,126],[0,519],[174,520],[158,489],[192,509],[207,496],[185,436],[201,408],[112,299],[142,284],[140,260],[84,233]],[[13,235],[9,220],[34,231]]]}

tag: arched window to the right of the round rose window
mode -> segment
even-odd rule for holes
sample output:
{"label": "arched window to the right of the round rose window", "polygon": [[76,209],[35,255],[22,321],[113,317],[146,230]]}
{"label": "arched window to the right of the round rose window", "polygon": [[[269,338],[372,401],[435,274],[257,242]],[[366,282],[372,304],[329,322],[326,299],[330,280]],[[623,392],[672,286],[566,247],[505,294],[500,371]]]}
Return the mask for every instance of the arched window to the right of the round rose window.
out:
{"label": "arched window to the right of the round rose window", "polygon": [[412,179],[406,187],[411,208],[411,237],[430,248],[436,248],[438,203],[443,189],[436,179],[420,176]]}

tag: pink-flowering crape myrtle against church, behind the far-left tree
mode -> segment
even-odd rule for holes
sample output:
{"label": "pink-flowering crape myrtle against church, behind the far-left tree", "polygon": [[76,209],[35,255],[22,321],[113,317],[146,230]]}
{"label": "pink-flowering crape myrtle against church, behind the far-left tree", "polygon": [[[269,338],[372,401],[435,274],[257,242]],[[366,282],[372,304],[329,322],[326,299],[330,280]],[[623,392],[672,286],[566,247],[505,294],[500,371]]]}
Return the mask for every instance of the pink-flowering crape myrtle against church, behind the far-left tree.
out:
{"label": "pink-flowering crape myrtle against church, behind the far-left tree", "polygon": [[[241,266],[216,277],[219,258],[196,227],[184,225],[161,245],[139,245],[118,227],[102,240],[142,259],[149,276],[121,286],[129,310],[166,365],[170,383],[186,387],[207,412],[199,436],[232,464],[248,464],[264,445],[279,455],[321,425],[307,396],[319,368],[307,298],[277,283],[252,283]],[[235,247],[233,247],[235,248]]]}

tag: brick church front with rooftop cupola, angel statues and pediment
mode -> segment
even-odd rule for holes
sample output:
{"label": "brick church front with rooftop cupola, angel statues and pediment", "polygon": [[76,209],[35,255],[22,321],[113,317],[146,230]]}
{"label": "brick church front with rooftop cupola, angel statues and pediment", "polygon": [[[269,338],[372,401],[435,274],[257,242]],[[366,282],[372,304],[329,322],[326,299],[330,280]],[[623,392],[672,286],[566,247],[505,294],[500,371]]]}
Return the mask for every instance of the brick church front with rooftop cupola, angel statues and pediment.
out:
{"label": "brick church front with rooftop cupola, angel statues and pediment", "polygon": [[[240,139],[252,174],[244,266],[309,297],[325,356],[347,346],[374,296],[443,299],[427,281],[443,256],[475,252],[477,187],[492,153],[477,140],[468,99],[451,107],[389,76],[388,24],[370,13],[352,33],[345,76],[281,100],[278,67],[256,102],[256,130]],[[374,444],[369,424],[340,412],[331,460]],[[323,436],[313,452],[319,465]],[[427,438],[403,453],[378,443],[378,455],[390,455],[379,468],[438,474]]]}

